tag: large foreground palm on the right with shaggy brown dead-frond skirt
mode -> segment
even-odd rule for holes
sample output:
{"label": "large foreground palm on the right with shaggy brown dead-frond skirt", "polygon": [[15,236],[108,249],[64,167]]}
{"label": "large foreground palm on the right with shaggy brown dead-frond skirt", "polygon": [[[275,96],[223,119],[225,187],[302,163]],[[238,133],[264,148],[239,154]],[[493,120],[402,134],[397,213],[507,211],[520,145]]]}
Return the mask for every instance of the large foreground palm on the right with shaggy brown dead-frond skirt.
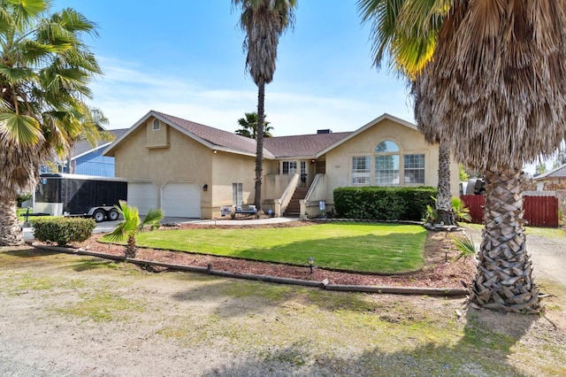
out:
{"label": "large foreground palm on the right with shaggy brown dead-frond skirt", "polygon": [[486,176],[470,300],[503,312],[538,312],[520,181],[524,163],[550,158],[566,136],[566,3],[406,0],[400,14],[403,28],[438,30],[413,88],[419,127]]}

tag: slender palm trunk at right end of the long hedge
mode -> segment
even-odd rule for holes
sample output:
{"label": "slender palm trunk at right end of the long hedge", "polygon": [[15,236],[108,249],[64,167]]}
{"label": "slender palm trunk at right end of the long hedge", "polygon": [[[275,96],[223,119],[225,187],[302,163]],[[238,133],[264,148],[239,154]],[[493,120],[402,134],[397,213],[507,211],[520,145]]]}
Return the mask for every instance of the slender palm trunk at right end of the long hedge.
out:
{"label": "slender palm trunk at right end of the long hedge", "polygon": [[444,225],[456,225],[452,211],[452,193],[450,192],[450,149],[447,142],[439,143],[439,194],[436,198],[438,221]]}

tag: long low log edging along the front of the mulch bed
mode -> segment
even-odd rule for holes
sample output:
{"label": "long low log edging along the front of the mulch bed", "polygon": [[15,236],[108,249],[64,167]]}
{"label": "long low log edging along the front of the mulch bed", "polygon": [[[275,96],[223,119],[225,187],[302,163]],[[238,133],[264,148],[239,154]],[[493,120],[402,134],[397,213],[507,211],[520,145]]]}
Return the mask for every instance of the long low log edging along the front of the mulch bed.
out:
{"label": "long low log edging along the front of the mulch bed", "polygon": [[454,288],[424,288],[424,287],[379,287],[379,286],[362,286],[362,285],[343,285],[343,284],[330,284],[326,279],[324,281],[307,281],[302,279],[282,278],[279,276],[270,275],[256,275],[252,273],[231,273],[222,270],[213,270],[212,266],[199,267],[194,265],[175,265],[164,262],[154,262],[150,260],[143,260],[137,258],[124,258],[114,254],[105,254],[102,252],[94,252],[81,249],[73,249],[62,246],[48,246],[37,245],[32,243],[35,249],[51,250],[65,252],[67,254],[85,255],[89,257],[97,257],[104,259],[111,259],[119,262],[133,263],[134,265],[151,265],[157,267],[164,267],[175,271],[187,271],[191,273],[207,273],[214,276],[220,276],[233,279],[244,279],[249,281],[265,281],[278,284],[300,285],[305,287],[313,287],[332,291],[341,292],[363,292],[363,293],[378,293],[378,294],[392,294],[392,295],[427,295],[427,296],[467,296],[468,289],[454,289]]}

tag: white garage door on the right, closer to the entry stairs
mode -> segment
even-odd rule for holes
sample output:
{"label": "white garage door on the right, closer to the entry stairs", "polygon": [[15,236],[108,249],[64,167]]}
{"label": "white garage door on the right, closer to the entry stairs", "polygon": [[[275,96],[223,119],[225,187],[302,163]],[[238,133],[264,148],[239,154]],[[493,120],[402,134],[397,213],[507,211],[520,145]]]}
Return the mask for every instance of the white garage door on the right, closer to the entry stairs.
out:
{"label": "white garage door on the right, closer to the entry stairs", "polygon": [[195,183],[165,183],[161,207],[166,217],[200,219],[201,188]]}

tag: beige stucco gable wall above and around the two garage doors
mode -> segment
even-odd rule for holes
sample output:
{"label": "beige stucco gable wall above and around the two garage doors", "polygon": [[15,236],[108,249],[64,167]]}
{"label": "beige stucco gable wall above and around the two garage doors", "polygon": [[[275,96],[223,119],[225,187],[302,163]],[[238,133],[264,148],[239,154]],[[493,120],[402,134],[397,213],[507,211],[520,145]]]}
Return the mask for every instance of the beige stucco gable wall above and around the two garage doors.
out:
{"label": "beige stucco gable wall above and around the two garage doors", "polygon": [[[148,119],[147,128],[152,127],[152,121]],[[148,135],[154,134],[150,134],[146,127],[138,127],[114,152],[116,175],[130,182],[153,182],[158,188],[157,205],[160,208],[161,188],[167,182],[194,182],[201,188],[208,182],[210,187],[213,163],[212,150],[172,127],[163,123],[161,126],[161,131],[168,135],[166,145],[164,139],[159,138],[164,147],[158,148],[157,142],[148,141]],[[202,192],[201,200],[210,203],[211,191]]]}

